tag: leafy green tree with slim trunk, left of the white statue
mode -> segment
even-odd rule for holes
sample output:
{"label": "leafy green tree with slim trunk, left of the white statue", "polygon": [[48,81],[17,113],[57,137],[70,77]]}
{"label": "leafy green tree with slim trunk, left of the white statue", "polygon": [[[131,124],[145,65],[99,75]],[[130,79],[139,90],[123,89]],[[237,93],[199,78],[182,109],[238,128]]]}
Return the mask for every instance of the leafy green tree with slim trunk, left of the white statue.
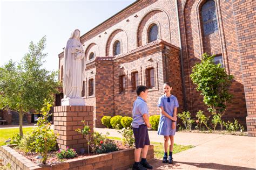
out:
{"label": "leafy green tree with slim trunk, left of the white statue", "polygon": [[40,111],[44,99],[53,100],[52,94],[57,93],[57,72],[42,68],[47,55],[43,53],[45,42],[45,36],[37,44],[31,41],[29,52],[17,65],[10,60],[0,67],[0,107],[19,111],[21,136],[24,113],[31,109]]}

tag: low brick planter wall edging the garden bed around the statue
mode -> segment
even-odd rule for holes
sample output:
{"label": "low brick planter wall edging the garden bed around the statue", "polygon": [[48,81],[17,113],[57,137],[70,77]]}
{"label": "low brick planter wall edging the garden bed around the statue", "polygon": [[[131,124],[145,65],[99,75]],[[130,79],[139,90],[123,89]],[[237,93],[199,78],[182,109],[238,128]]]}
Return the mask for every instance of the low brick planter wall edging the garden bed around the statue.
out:
{"label": "low brick planter wall edging the garden bed around the statue", "polygon": [[[150,145],[147,160],[154,158],[154,146]],[[0,146],[0,159],[4,165],[10,163],[11,169],[127,169],[134,162],[134,148],[98,154],[84,158],[66,160],[57,165],[38,166],[9,146]]]}

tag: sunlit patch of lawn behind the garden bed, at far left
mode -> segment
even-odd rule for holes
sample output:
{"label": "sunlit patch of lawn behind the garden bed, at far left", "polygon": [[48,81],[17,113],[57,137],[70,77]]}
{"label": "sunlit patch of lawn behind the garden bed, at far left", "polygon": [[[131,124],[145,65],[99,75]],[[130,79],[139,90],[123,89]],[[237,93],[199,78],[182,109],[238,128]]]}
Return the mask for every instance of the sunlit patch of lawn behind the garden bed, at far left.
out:
{"label": "sunlit patch of lawn behind the garden bed, at far left", "polygon": [[[23,134],[26,134],[26,132],[31,132],[32,128],[23,128]],[[9,138],[12,138],[14,134],[19,133],[19,128],[12,128],[12,129],[0,129],[0,146],[6,145],[4,142],[5,140],[8,140]]]}

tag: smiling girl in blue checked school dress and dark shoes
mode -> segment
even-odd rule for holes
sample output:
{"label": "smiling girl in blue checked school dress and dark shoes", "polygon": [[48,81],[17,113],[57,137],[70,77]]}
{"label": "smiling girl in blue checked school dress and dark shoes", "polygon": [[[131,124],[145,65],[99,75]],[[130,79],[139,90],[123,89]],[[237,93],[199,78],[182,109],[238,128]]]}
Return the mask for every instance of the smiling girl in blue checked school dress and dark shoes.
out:
{"label": "smiling girl in blue checked school dress and dark shoes", "polygon": [[[177,121],[177,108],[179,107],[178,100],[171,94],[172,86],[170,83],[164,83],[164,95],[159,97],[158,107],[160,108],[160,121],[158,125],[157,133],[164,136],[164,158],[163,163],[173,164],[172,150],[174,139],[173,136],[176,132],[176,121]],[[171,140],[169,157],[167,156],[167,147]]]}

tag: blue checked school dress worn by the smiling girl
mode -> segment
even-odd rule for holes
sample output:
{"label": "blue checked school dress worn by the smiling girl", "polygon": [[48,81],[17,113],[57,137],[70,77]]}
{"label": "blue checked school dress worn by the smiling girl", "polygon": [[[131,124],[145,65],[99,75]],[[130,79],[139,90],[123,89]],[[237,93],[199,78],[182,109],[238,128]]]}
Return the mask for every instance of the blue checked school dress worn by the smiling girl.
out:
{"label": "blue checked school dress worn by the smiling girl", "polygon": [[[178,108],[179,103],[175,96],[171,95],[170,97],[167,97],[166,95],[163,95],[159,97],[158,107],[163,107],[167,114],[173,116],[174,108]],[[172,129],[172,123],[176,122],[172,122],[171,119],[161,114],[157,134],[173,136],[176,132],[176,129]]]}

